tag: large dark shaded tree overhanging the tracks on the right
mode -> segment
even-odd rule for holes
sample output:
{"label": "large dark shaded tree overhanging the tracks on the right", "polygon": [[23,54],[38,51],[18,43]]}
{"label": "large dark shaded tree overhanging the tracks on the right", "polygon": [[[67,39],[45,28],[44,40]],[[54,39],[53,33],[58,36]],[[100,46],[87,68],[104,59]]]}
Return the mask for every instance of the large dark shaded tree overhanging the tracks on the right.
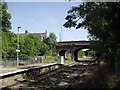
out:
{"label": "large dark shaded tree overhanging the tracks on the right", "polygon": [[[86,2],[77,7],[72,7],[65,18],[66,28],[86,28],[90,39],[97,40],[100,47],[100,56],[109,60],[114,69],[115,62],[120,55],[120,2]],[[81,20],[82,19],[82,20]],[[81,21],[80,21],[81,20]]]}

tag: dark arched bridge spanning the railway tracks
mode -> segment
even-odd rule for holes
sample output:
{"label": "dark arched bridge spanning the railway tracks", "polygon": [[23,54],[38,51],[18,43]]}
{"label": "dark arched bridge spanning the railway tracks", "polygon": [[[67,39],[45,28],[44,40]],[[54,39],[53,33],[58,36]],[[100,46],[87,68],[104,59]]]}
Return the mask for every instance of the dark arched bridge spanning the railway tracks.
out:
{"label": "dark arched bridge spanning the railway tracks", "polygon": [[91,41],[62,41],[56,45],[56,50],[59,56],[68,54],[70,60],[78,61],[78,52],[81,49],[91,49]]}

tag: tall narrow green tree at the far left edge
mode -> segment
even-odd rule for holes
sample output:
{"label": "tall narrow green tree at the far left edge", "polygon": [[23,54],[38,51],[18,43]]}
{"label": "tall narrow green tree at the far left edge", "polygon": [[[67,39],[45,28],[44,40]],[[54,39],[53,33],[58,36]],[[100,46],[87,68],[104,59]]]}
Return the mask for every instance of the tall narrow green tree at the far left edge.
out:
{"label": "tall narrow green tree at the far left edge", "polygon": [[0,2],[0,19],[2,22],[1,27],[1,34],[2,34],[2,57],[8,57],[9,56],[9,46],[10,46],[10,40],[12,38],[12,33],[10,32],[11,27],[11,15],[8,13],[8,6],[6,2]]}

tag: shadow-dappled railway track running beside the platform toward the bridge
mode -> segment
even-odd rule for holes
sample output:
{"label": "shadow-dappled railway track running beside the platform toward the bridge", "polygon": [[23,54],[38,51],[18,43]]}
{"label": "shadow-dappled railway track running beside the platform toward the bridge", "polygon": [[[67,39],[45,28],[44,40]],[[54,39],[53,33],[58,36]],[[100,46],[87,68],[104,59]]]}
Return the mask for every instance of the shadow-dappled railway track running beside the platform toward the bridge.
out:
{"label": "shadow-dappled railway track running beside the platform toward the bridge", "polygon": [[45,75],[39,75],[34,80],[18,81],[18,84],[8,88],[11,90],[13,88],[21,90],[26,90],[26,88],[32,90],[62,88],[62,90],[67,90],[84,83],[95,69],[97,69],[96,65],[72,63]]}

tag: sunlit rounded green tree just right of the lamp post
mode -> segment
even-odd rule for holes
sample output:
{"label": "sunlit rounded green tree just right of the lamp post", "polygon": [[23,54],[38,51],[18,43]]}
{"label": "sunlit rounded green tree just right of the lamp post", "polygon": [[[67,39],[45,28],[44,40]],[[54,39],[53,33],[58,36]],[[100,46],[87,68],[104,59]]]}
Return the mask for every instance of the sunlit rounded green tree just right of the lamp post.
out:
{"label": "sunlit rounded green tree just right of the lamp post", "polygon": [[48,46],[36,34],[23,34],[20,35],[20,50],[21,56],[38,56],[46,54]]}

